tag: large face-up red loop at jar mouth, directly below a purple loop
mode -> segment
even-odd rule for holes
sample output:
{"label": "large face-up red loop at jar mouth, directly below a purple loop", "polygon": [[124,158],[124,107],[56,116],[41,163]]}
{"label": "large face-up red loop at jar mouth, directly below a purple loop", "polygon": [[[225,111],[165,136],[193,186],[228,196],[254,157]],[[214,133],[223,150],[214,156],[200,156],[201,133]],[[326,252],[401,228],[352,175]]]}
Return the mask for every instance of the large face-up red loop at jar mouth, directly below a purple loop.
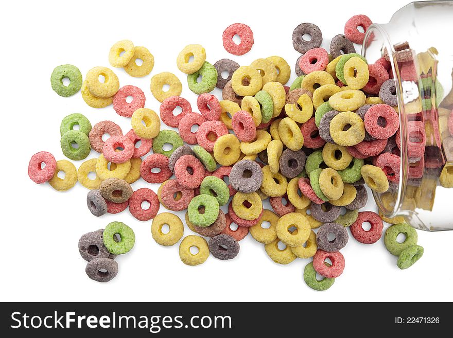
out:
{"label": "large face-up red loop at jar mouth, directly below a purple loop", "polygon": [[[380,122],[384,119],[385,121]],[[399,117],[395,110],[388,104],[373,104],[365,113],[365,129],[377,139],[388,139],[399,128]]]}

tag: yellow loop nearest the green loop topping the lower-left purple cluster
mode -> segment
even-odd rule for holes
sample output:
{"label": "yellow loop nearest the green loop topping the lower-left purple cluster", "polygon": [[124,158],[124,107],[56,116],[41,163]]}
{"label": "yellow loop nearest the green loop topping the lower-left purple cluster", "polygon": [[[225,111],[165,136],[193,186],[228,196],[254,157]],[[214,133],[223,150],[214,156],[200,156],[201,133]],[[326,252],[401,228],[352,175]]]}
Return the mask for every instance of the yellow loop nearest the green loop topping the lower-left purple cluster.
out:
{"label": "yellow loop nearest the green loop topping the lower-left purple cluster", "polygon": [[[166,234],[162,232],[162,227],[164,225],[167,225],[169,228],[169,231]],[[161,214],[156,215],[156,217],[152,220],[151,234],[156,243],[160,245],[175,245],[184,234],[184,225],[182,224],[180,218],[175,214],[162,212]]]}

